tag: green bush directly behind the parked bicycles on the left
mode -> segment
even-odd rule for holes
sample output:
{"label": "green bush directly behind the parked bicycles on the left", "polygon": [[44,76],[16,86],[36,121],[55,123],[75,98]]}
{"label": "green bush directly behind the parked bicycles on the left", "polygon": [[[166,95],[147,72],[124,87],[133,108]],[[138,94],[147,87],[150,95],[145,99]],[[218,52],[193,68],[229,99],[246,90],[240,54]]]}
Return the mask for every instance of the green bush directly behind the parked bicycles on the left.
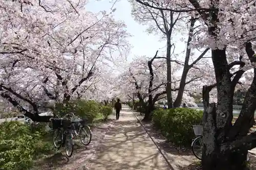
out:
{"label": "green bush directly behind the parked bicycles on the left", "polygon": [[95,101],[75,100],[69,103],[59,103],[55,105],[54,113],[63,117],[67,113],[74,113],[75,115],[86,118],[89,123],[100,113],[100,104]]}

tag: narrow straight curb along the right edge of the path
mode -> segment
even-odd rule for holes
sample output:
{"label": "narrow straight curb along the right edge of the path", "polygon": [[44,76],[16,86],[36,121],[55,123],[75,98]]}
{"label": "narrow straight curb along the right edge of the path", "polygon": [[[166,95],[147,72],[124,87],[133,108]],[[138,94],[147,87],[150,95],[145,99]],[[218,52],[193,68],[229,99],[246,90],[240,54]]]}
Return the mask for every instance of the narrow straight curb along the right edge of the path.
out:
{"label": "narrow straight curb along the right edge of the path", "polygon": [[[131,108],[130,108],[131,109]],[[157,140],[152,137],[150,135],[150,133],[148,133],[148,131],[145,129],[145,127],[143,126],[143,124],[141,123],[141,120],[134,114],[134,111],[131,109],[132,113],[133,113],[133,116],[136,117],[136,119],[138,120],[138,122],[140,123],[141,127],[144,129],[144,131],[147,133],[147,135],[151,138],[151,140],[153,141],[153,143],[156,145],[157,149],[159,150],[159,152],[161,153],[161,155],[164,157],[166,163],[168,164],[169,168],[172,169],[172,170],[179,170],[179,168],[173,164],[173,163],[170,163],[169,161],[169,156],[167,155],[167,153],[161,149],[161,147],[158,146],[157,144]]]}

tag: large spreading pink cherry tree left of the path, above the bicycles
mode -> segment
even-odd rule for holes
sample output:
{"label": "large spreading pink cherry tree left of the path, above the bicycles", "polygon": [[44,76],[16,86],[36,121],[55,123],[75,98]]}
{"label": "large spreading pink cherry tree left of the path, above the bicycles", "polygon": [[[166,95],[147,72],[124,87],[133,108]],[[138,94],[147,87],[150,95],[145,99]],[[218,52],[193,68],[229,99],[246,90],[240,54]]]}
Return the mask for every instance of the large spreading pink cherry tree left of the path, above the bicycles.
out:
{"label": "large spreading pink cherry tree left of the path, above the bicycles", "polygon": [[34,121],[49,121],[38,115],[38,101],[68,102],[92,92],[101,63],[126,50],[124,23],[113,12],[94,14],[85,6],[86,1],[0,2],[0,95]]}

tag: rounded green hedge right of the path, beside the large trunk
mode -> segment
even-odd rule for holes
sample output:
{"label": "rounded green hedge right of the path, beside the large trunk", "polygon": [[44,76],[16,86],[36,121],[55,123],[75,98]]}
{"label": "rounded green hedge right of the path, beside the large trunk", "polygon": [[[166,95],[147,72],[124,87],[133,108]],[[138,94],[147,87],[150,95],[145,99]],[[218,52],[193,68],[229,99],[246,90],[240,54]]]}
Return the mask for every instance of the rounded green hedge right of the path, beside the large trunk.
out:
{"label": "rounded green hedge right of the path, beside the large trunk", "polygon": [[202,124],[203,111],[189,108],[157,109],[153,113],[156,128],[171,142],[189,146],[195,137],[193,125]]}

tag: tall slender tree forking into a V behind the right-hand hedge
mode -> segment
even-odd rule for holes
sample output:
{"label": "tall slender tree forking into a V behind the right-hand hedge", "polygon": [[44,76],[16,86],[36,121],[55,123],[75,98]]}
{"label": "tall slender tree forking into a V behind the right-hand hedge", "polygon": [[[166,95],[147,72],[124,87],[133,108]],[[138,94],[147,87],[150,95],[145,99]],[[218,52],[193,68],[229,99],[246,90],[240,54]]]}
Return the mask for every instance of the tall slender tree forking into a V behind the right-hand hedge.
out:
{"label": "tall slender tree forking into a V behind the right-hand hedge", "polygon": [[[177,13],[175,11],[165,11],[162,9],[167,8],[170,6],[168,1],[165,2],[157,2],[151,1],[151,3],[156,8],[148,7],[147,1],[140,1],[140,3],[136,3],[136,1],[131,1],[133,5],[132,14],[138,22],[147,25],[148,33],[158,34],[162,37],[164,41],[166,41],[166,69],[167,69],[167,85],[166,85],[166,92],[167,92],[167,105],[168,108],[179,107],[182,101],[182,96],[185,89],[185,82],[186,76],[189,72],[190,68],[193,68],[208,52],[209,48],[205,48],[202,50],[201,55],[194,56],[193,48],[190,47],[190,42],[193,37],[199,31],[197,29],[197,25],[195,25],[197,18],[193,17],[189,14],[185,13]],[[158,9],[159,8],[159,9]],[[176,33],[184,33],[186,32],[186,24],[188,22],[188,38],[186,41],[186,53],[183,56],[179,56],[182,58],[174,59],[175,58],[175,44],[176,41],[174,40]],[[180,83],[180,88],[178,90],[177,97],[173,101],[172,96],[172,62],[179,63],[183,65],[182,77]]]}

